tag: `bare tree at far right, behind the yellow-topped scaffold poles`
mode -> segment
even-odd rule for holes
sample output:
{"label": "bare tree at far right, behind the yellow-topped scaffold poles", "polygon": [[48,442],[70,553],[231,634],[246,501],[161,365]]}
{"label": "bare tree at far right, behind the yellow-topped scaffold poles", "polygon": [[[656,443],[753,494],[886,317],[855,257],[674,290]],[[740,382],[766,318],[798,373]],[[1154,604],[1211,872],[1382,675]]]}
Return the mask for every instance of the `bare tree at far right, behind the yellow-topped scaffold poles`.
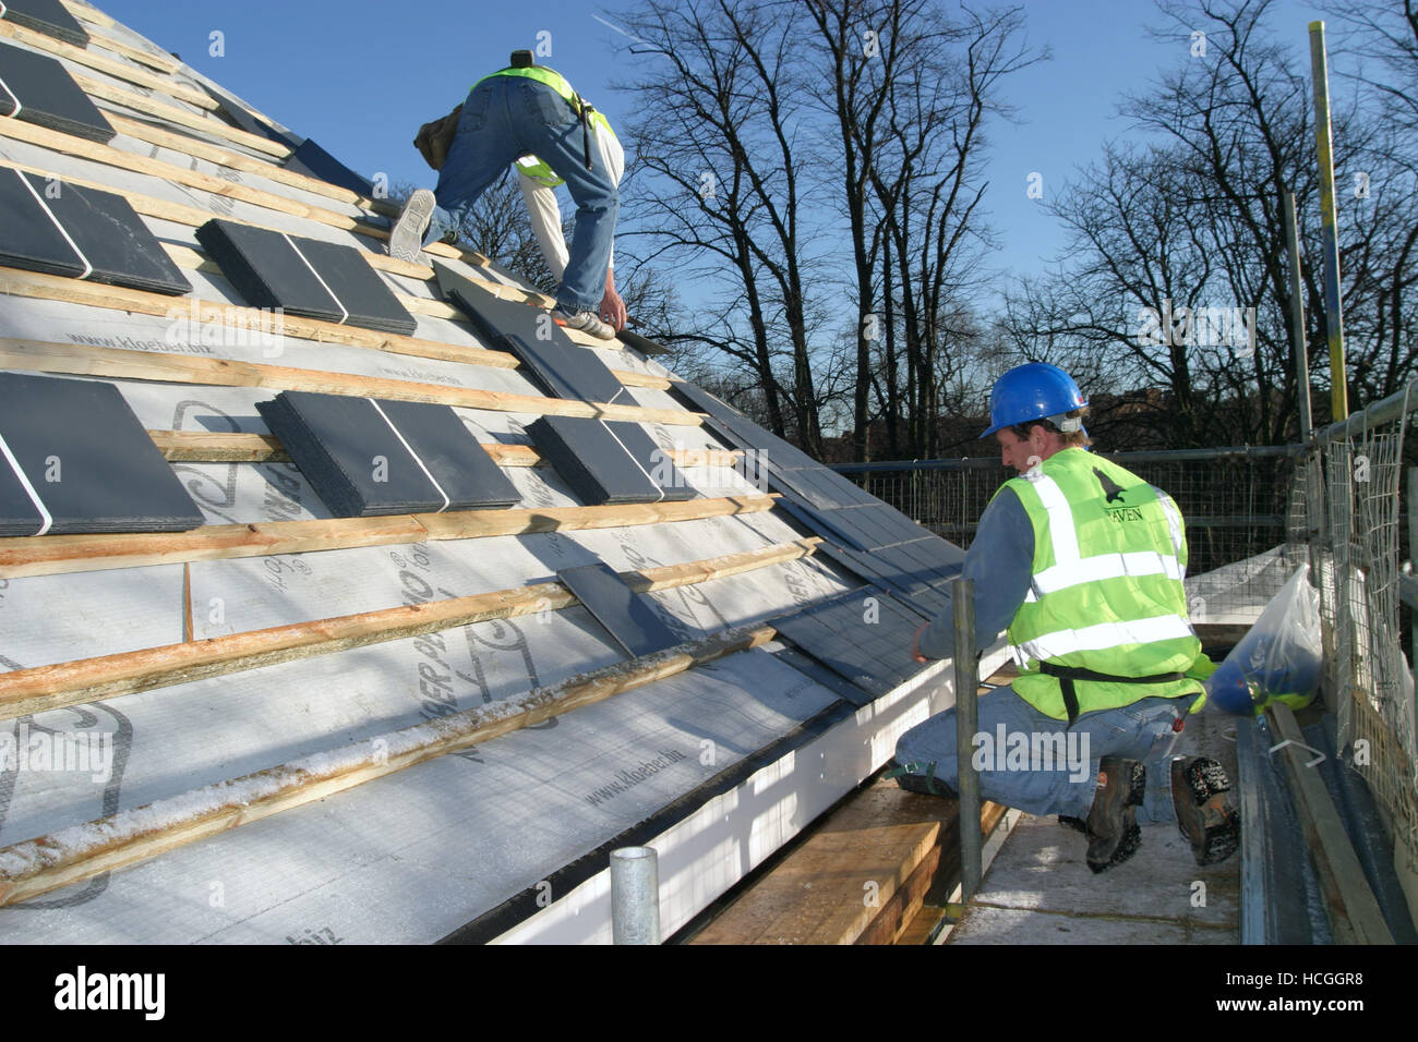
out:
{"label": "bare tree at far right, behind the yellow-topped scaffold poles", "polygon": [[[1295,191],[1303,252],[1317,258],[1307,61],[1297,47],[1269,35],[1269,0],[1161,7],[1185,57],[1154,91],[1124,102],[1139,140],[1109,147],[1054,201],[1071,233],[1072,259],[1010,295],[1007,327],[1021,353],[1048,344],[1092,374],[1098,390],[1161,387],[1166,394],[1151,410],[1129,407],[1134,439],[1293,438],[1296,359],[1280,200],[1286,189]],[[1205,34],[1200,47],[1195,31]],[[1364,156],[1374,123],[1360,109],[1337,103],[1333,123],[1337,170],[1377,162]],[[1392,296],[1395,279],[1411,282],[1402,255],[1411,217],[1402,218],[1400,204],[1411,207],[1411,198],[1409,190],[1395,189],[1367,210],[1340,200],[1356,401],[1412,367],[1411,335],[1404,350],[1392,339],[1397,327],[1412,330],[1411,301]],[[1310,371],[1323,377],[1324,296],[1316,264],[1303,267],[1303,282]],[[1385,301],[1398,303],[1397,316],[1392,308],[1384,316]],[[1236,315],[1245,318],[1244,332]],[[1381,329],[1390,330],[1387,347]],[[1322,401],[1316,413],[1323,417]]]}

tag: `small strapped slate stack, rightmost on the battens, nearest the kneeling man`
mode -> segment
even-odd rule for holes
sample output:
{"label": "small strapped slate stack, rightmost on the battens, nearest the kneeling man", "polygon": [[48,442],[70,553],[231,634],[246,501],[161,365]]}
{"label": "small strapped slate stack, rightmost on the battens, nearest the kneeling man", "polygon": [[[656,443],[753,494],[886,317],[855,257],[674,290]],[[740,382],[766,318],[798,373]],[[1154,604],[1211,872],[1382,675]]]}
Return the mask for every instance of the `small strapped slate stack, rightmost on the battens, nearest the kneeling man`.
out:
{"label": "small strapped slate stack, rightmost on the battens, nearest the kneeling man", "polygon": [[527,434],[586,506],[681,502],[698,495],[640,424],[546,415]]}

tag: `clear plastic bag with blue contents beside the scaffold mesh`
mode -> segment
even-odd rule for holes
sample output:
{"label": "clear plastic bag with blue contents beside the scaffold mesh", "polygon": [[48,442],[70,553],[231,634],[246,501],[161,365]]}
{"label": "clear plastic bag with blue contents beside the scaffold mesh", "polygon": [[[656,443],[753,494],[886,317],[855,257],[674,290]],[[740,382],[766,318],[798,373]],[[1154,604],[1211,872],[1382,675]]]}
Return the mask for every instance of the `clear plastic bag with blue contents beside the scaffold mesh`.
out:
{"label": "clear plastic bag with blue contents beside the scaffold mesh", "polygon": [[1300,709],[1320,686],[1320,597],[1302,564],[1261,618],[1207,679],[1208,702],[1238,716],[1259,713],[1272,699]]}

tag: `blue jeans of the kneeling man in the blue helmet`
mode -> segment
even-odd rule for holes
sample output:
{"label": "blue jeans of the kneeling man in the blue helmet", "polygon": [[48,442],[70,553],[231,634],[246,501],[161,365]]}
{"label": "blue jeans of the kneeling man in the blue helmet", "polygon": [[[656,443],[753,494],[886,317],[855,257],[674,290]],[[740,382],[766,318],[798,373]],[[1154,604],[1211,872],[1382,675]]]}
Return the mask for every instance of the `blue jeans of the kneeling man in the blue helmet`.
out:
{"label": "blue jeans of the kneeling man in the blue helmet", "polygon": [[[1120,709],[1083,713],[1069,727],[1045,716],[1014,693],[997,688],[980,698],[980,729],[974,761],[980,794],[1028,814],[1088,817],[1098,788],[1098,761],[1105,756],[1141,760],[1147,795],[1139,808],[1149,821],[1176,821],[1171,805],[1173,722],[1185,716],[1194,696],[1141,699]],[[934,775],[957,790],[956,710],[919,723],[896,741],[896,763],[913,774]]]}

